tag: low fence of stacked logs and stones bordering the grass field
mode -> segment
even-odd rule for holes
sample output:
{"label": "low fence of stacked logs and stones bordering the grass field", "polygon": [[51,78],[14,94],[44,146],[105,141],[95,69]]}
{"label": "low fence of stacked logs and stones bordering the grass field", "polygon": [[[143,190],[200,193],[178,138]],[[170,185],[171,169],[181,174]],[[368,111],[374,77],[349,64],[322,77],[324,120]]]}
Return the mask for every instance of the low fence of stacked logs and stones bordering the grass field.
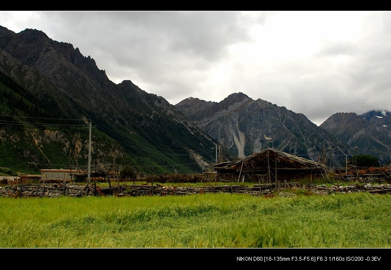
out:
{"label": "low fence of stacked logs and stones bordering the grass field", "polygon": [[[253,186],[246,185],[210,185],[210,186],[163,186],[159,184],[124,185],[100,188],[92,185],[63,185],[63,184],[19,184],[7,187],[0,187],[0,197],[50,197],[58,198],[62,196],[118,196],[118,197],[138,197],[138,196],[168,196],[168,195],[191,195],[207,193],[232,193],[246,194],[251,196],[269,196],[273,193],[280,193],[291,189],[305,189],[319,195],[329,195],[332,193],[349,192],[369,192],[373,194],[391,193],[391,184],[355,184],[348,186],[332,185],[300,185],[287,184],[283,188],[275,184],[260,184]],[[292,194],[294,194],[292,192]]]}

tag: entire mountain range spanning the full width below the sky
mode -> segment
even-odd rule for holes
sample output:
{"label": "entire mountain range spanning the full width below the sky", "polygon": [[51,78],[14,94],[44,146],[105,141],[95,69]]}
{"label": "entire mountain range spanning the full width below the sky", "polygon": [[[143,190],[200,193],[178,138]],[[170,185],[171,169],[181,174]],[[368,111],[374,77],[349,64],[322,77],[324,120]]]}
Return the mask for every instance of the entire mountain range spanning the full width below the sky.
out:
{"label": "entire mountain range spanning the full width below the sky", "polygon": [[390,160],[390,112],[340,112],[318,127],[241,92],[171,105],[111,82],[90,56],[36,29],[0,26],[0,96],[0,166],[14,170],[86,166],[89,122],[94,168],[129,165],[140,176],[201,172],[266,147],[330,166],[356,154]]}

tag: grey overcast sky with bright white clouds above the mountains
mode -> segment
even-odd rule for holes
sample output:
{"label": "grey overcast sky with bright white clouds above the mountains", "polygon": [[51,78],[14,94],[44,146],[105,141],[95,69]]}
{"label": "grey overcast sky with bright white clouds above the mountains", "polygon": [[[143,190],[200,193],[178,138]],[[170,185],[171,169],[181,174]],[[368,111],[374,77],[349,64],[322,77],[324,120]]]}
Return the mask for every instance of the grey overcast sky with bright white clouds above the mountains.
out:
{"label": "grey overcast sky with bright white clouds above the mountains", "polygon": [[243,92],[320,125],[391,111],[390,11],[0,11],[175,105]]}

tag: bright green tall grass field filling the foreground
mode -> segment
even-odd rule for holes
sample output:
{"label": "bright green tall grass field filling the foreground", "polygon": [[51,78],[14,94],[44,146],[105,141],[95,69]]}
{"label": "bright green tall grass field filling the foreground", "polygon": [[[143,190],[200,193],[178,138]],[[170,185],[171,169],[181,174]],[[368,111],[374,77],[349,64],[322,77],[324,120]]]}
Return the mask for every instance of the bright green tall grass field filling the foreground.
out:
{"label": "bright green tall grass field filling the foreground", "polygon": [[391,196],[0,198],[0,248],[391,248]]}

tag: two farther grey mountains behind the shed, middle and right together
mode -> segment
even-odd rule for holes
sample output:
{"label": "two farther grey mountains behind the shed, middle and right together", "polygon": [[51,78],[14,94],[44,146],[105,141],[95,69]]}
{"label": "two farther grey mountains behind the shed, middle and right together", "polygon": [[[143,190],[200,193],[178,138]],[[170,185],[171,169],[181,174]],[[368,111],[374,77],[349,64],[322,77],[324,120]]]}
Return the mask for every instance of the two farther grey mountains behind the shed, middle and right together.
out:
{"label": "two farther grey mountains behind the shed, middle and right together", "polygon": [[329,167],[341,167],[354,155],[375,156],[380,164],[390,160],[387,111],[335,113],[318,127],[302,113],[241,92],[221,102],[190,97],[175,107],[239,158],[274,147]]}

